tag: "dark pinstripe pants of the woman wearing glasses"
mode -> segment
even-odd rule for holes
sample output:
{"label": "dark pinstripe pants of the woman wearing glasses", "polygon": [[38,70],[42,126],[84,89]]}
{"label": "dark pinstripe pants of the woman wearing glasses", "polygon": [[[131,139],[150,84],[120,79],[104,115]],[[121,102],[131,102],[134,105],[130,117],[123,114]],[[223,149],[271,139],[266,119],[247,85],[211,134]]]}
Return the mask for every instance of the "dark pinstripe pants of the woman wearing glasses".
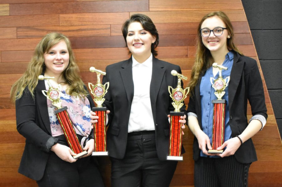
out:
{"label": "dark pinstripe pants of the woman wearing glasses", "polygon": [[200,157],[195,162],[195,187],[247,187],[250,164],[238,162],[234,155]]}

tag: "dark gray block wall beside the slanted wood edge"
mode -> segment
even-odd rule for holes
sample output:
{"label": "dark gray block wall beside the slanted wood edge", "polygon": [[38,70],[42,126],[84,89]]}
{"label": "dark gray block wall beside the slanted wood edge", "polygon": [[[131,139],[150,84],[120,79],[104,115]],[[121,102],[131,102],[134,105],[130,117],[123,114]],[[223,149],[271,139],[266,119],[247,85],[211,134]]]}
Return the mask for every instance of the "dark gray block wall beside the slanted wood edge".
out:
{"label": "dark gray block wall beside the slanted wood edge", "polygon": [[282,137],[282,0],[242,0]]}

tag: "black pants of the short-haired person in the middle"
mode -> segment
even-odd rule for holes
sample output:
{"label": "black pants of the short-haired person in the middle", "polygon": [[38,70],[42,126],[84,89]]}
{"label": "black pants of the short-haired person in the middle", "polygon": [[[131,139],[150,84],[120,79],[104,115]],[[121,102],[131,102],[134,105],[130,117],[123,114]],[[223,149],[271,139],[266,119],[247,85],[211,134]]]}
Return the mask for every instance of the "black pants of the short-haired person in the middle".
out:
{"label": "black pants of the short-haired person in the middle", "polygon": [[112,161],[112,187],[166,187],[170,185],[176,161],[160,161],[154,131],[128,133],[123,159]]}

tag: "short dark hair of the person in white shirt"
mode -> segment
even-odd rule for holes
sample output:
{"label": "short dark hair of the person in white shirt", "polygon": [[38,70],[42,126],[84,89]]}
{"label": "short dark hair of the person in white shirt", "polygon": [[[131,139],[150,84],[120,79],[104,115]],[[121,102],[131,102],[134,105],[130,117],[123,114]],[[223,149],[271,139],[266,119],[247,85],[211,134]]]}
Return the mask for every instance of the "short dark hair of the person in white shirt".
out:
{"label": "short dark hair of the person in white shirt", "polygon": [[150,34],[156,37],[156,41],[153,44],[151,44],[151,52],[154,56],[157,56],[158,53],[155,49],[159,45],[159,34],[151,18],[149,18],[148,16],[144,14],[133,14],[128,20],[126,20],[123,23],[122,32],[123,32],[123,38],[125,40],[126,46],[127,46],[126,36],[128,32],[128,26],[130,23],[133,23],[133,22],[141,23],[142,27],[146,31],[148,31]]}

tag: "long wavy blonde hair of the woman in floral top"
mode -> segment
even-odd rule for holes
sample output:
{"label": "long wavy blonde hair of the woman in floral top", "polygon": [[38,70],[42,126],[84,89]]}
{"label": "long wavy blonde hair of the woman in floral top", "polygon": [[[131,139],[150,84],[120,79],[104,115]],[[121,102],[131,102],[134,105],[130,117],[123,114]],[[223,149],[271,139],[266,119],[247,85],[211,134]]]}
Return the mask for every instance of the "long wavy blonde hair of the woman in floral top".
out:
{"label": "long wavy blonde hair of the woman in floral top", "polygon": [[70,40],[64,34],[49,33],[41,39],[39,44],[37,44],[34,55],[32,56],[24,75],[13,84],[10,93],[10,98],[13,102],[22,97],[26,87],[34,98],[34,89],[38,84],[38,76],[45,71],[44,54],[62,40],[65,41],[70,55],[69,65],[62,73],[63,78],[69,85],[68,94],[73,96],[86,96],[88,94],[83,87],[84,83],[79,75],[79,68],[75,62]]}

